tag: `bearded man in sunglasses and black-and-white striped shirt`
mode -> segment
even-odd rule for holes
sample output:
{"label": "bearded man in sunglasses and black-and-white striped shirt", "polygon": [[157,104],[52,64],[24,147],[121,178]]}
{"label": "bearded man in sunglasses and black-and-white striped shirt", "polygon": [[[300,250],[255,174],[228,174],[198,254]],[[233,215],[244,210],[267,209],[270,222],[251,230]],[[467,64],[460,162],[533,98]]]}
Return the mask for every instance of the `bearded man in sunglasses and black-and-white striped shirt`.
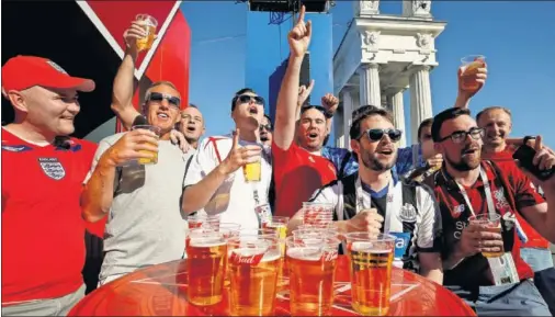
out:
{"label": "bearded man in sunglasses and black-and-white striped shirt", "polygon": [[[372,107],[359,115],[350,129],[359,171],[319,189],[312,201],[335,206],[341,234],[395,235],[397,265],[441,284],[441,219],[433,194],[422,185],[400,181],[392,171],[401,135],[386,110]],[[290,229],[302,222],[299,211]]]}

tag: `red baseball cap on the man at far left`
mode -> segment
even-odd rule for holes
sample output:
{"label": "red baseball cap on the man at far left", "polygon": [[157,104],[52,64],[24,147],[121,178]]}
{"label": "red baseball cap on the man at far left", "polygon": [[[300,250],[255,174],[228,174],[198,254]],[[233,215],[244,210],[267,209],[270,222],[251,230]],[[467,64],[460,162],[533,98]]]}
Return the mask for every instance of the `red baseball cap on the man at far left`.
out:
{"label": "red baseball cap on the man at far left", "polygon": [[94,90],[93,80],[71,77],[64,68],[46,58],[19,55],[2,66],[2,88],[5,91],[25,90],[33,86],[86,92]]}

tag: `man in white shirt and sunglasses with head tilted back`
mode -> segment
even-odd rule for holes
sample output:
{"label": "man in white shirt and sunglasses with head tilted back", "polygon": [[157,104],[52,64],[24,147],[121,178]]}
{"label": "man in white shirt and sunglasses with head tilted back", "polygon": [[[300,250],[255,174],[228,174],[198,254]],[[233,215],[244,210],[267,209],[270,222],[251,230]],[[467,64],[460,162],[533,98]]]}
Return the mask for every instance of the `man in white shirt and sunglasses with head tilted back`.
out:
{"label": "man in white shirt and sunglasses with head tilted back", "polygon": [[[239,90],[231,100],[233,134],[203,139],[186,172],[184,215],[204,208],[220,222],[258,228],[270,216],[268,193],[272,178],[269,148],[260,144],[264,100],[252,89]],[[260,161],[260,179],[246,180],[243,167]]]}

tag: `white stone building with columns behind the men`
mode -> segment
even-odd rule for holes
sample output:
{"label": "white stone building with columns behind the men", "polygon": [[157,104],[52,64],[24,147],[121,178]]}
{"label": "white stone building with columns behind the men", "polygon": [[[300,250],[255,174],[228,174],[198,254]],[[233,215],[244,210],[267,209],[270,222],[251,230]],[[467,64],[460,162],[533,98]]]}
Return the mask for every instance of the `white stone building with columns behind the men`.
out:
{"label": "white stone building with columns behind the men", "polygon": [[[335,120],[336,146],[349,148],[351,113],[360,105],[389,109],[405,129],[403,92],[410,88],[410,128],[417,143],[421,121],[432,116],[430,71],[438,66],[435,38],[445,22],[434,21],[431,1],[404,0],[403,15],[380,14],[378,0],[353,1],[354,18],[333,57],[333,92],[341,104]],[[406,146],[405,138],[400,146]]]}

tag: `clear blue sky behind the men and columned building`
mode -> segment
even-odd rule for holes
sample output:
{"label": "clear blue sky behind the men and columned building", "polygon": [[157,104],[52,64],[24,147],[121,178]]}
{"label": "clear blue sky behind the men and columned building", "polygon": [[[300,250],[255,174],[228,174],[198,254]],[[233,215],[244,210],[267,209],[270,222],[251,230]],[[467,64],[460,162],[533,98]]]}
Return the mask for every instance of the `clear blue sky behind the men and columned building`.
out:
{"label": "clear blue sky behind the men and columned building", "polygon": [[[382,13],[400,14],[399,1],[381,2]],[[234,1],[182,4],[192,31],[190,101],[200,105],[207,136],[234,128],[230,99],[245,86],[248,63],[246,8]],[[431,10],[437,20],[448,22],[435,42],[440,66],[431,73],[434,113],[454,102],[461,57],[483,54],[489,78],[471,104],[474,113],[507,106],[513,113],[513,136],[541,134],[554,148],[555,2],[432,1]],[[335,50],[352,19],[352,2],[337,1],[331,14]],[[282,36],[290,27],[291,20],[281,26]],[[260,38],[259,45],[267,41],[279,38]],[[405,105],[408,109],[408,93]]]}

